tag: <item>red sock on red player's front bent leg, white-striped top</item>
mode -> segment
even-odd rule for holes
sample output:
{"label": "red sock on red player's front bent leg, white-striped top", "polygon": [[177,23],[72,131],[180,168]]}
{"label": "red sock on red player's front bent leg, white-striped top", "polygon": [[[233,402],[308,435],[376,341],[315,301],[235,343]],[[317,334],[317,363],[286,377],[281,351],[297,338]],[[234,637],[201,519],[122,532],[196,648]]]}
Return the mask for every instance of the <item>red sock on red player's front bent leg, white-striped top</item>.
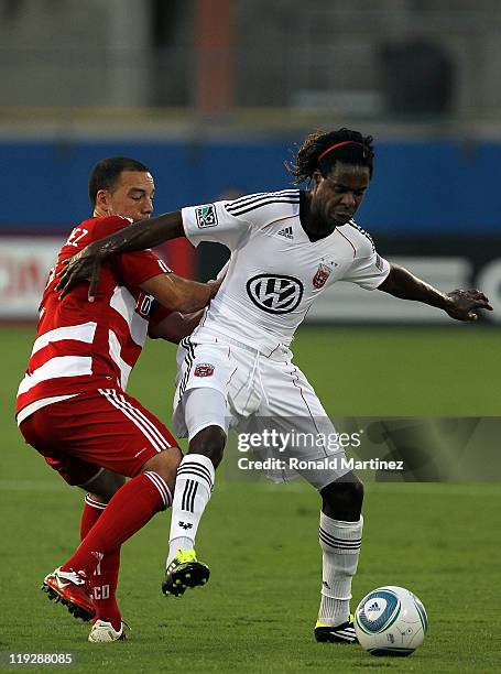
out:
{"label": "red sock on red player's front bent leg, white-striped top", "polygon": [[151,518],[171,504],[171,491],[159,474],[148,470],[120,487],[62,570],[90,578],[106,554],[116,551]]}

